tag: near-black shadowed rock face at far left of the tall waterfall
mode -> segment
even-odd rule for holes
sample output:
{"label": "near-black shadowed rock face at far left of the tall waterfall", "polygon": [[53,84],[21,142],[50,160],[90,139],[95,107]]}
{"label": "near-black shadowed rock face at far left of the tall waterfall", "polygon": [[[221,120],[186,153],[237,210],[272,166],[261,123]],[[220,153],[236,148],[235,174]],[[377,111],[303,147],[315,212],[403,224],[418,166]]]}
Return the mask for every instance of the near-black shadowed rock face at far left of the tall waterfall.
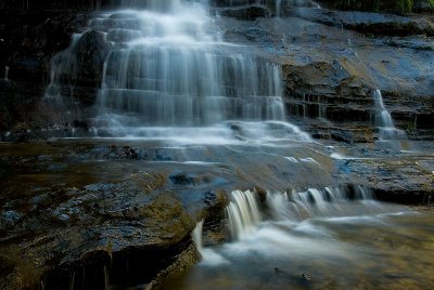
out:
{"label": "near-black shadowed rock face at far left of the tall waterfall", "polygon": [[69,45],[87,16],[69,8],[13,8],[0,10],[0,128],[22,134],[51,126],[49,111],[39,105],[50,80],[50,60]]}

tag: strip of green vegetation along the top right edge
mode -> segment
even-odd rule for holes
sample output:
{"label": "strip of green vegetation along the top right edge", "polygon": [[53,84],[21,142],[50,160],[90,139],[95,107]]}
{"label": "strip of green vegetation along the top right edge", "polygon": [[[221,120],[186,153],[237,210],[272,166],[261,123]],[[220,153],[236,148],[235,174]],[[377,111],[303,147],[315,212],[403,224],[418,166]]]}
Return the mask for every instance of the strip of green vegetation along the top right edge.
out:
{"label": "strip of green vegetation along the top right edge", "polygon": [[371,12],[434,12],[434,0],[323,0],[327,5],[339,10]]}

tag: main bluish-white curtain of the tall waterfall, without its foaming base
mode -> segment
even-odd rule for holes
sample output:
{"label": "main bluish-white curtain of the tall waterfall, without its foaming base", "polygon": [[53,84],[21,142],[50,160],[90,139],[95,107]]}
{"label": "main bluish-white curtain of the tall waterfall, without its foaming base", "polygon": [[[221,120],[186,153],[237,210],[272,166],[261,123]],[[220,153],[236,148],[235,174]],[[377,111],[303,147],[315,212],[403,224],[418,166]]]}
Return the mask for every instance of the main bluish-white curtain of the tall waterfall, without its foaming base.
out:
{"label": "main bluish-white curtain of the tall waterfall, without its foaming base", "polygon": [[112,45],[97,128],[124,135],[138,128],[284,119],[280,68],[221,41],[203,2],[123,1],[144,10],[90,22]]}

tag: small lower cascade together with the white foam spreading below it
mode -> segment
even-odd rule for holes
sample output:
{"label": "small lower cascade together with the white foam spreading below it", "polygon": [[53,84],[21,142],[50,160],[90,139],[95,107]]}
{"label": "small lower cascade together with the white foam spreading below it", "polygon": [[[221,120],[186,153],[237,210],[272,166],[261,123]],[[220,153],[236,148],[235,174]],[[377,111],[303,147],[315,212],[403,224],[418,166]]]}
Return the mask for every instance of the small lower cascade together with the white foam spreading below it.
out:
{"label": "small lower cascade together with the white foam spreading below it", "polygon": [[[265,259],[268,262],[264,264],[270,267],[289,259],[303,264],[312,256],[356,262],[354,246],[335,240],[329,227],[382,225],[387,216],[409,213],[406,208],[374,201],[362,186],[268,193],[264,203],[251,190],[232,192],[229,198],[226,223],[230,242],[205,248],[200,243],[201,265],[218,267],[225,263],[237,269],[239,264],[261,264],[260,259]],[[196,238],[202,236],[201,229],[202,223],[194,230],[194,240],[201,240]]]}

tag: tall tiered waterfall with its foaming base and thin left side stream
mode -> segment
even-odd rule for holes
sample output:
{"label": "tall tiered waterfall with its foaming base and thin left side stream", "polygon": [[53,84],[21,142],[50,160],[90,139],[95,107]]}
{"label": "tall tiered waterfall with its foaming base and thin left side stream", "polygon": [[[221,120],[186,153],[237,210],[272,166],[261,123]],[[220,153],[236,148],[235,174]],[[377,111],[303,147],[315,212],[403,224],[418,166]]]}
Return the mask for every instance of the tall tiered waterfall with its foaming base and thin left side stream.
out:
{"label": "tall tiered waterfall with its foaming base and thin left side stream", "polygon": [[[131,10],[101,13],[88,24],[111,47],[95,135],[202,144],[310,141],[285,122],[280,67],[253,48],[222,41],[207,1],[122,4]],[[66,106],[65,95],[74,103],[79,94],[64,76],[79,74],[72,52],[81,36],[52,60],[46,98],[53,104]]]}

